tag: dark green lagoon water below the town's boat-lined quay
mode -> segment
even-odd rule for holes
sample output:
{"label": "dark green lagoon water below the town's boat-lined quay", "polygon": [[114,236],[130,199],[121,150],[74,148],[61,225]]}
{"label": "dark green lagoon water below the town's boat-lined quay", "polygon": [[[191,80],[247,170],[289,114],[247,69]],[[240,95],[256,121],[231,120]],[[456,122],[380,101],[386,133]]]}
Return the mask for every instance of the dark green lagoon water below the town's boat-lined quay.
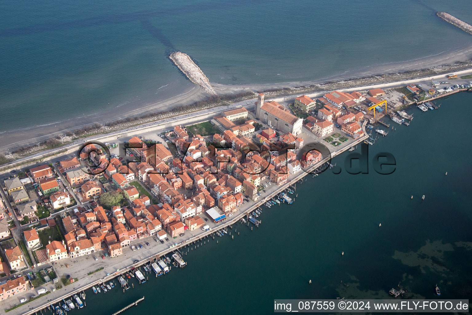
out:
{"label": "dark green lagoon water below the town's boat-lined quay", "polygon": [[[184,256],[185,268],[150,273],[142,285],[131,279],[126,293],[88,290],[87,306],[68,314],[109,315],[143,296],[123,314],[271,314],[275,298],[388,298],[399,286],[405,298],[434,299],[436,284],[441,298],[469,298],[470,121],[449,113],[466,112],[471,96],[438,100],[439,110],[407,109],[409,127],[369,146],[369,174],[348,174],[347,154],[337,156],[340,174],[305,177],[293,204],[263,208],[259,228],[235,224],[234,239],[207,241]],[[379,152],[394,155],[393,174],[371,167]]]}

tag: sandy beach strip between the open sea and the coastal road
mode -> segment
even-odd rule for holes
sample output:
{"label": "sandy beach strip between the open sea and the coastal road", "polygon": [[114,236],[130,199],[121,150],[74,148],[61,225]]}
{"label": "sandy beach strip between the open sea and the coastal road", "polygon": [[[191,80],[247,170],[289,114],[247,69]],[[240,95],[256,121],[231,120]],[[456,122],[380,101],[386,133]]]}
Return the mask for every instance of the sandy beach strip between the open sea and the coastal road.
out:
{"label": "sandy beach strip between the open sea and the coastal road", "polygon": [[[274,88],[293,88],[300,85],[322,85],[326,82],[337,81],[344,83],[344,81],[352,81],[356,78],[362,77],[376,77],[394,76],[401,74],[402,71],[421,71],[430,68],[437,68],[437,71],[451,71],[457,66],[457,62],[469,63],[472,66],[472,44],[464,44],[457,49],[451,51],[443,51],[434,56],[425,56],[417,60],[406,60],[388,64],[374,65],[368,68],[357,68],[346,71],[342,74],[333,75],[331,77],[320,78],[312,81],[288,82],[288,83],[273,83],[273,84],[244,84],[244,85],[224,85],[211,82],[211,85],[218,92],[218,94],[232,94],[241,92],[261,92],[264,89]],[[189,82],[190,83],[190,82]],[[124,119],[126,117],[134,117],[142,115],[143,113],[151,113],[162,109],[172,110],[177,106],[191,105],[194,102],[208,98],[200,86],[189,85],[185,88],[183,93],[176,93],[174,91],[164,96],[164,99],[157,99],[155,101],[136,104],[136,108],[132,111],[125,110],[133,106],[133,102],[118,105],[113,109],[101,111],[97,115],[88,115],[84,117],[68,118],[62,122],[51,122],[40,126],[32,126],[28,128],[19,128],[11,131],[0,132],[0,152],[5,153],[11,149],[21,146],[38,143],[44,139],[64,135],[66,132],[71,132],[77,128],[83,128],[95,123],[108,123]],[[296,93],[296,91],[295,91]],[[139,101],[137,101],[139,102]]]}

